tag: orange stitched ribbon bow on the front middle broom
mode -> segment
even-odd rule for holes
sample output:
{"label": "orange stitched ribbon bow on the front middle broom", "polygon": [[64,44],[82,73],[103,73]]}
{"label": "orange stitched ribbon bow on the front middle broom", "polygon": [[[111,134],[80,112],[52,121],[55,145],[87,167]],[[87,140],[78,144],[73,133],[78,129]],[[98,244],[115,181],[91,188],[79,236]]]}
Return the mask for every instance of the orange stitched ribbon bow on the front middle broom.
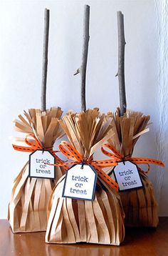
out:
{"label": "orange stitched ribbon bow on the front middle broom", "polygon": [[90,159],[83,159],[83,156],[68,142],[61,142],[59,144],[60,151],[73,160],[73,162],[64,162],[63,164],[52,164],[56,166],[69,165],[69,164],[90,164],[98,172],[98,176],[112,189],[118,191],[118,184],[110,176],[108,176],[100,167],[116,166],[116,160],[98,160],[94,161],[92,157]]}

